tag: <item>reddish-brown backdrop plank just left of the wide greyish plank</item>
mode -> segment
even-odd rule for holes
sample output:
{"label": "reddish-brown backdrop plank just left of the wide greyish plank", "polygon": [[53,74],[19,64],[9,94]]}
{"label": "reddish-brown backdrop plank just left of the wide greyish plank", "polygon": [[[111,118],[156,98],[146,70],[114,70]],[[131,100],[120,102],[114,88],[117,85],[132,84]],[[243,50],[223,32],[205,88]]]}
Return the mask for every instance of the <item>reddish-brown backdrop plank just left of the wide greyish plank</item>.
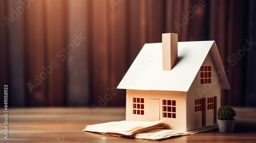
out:
{"label": "reddish-brown backdrop plank just left of the wide greyish plank", "polygon": [[[67,1],[46,0],[47,64],[55,68],[48,76],[48,106],[66,105]],[[63,51],[62,51],[63,49]],[[66,51],[67,52],[67,51]],[[68,52],[67,52],[68,53]]]}

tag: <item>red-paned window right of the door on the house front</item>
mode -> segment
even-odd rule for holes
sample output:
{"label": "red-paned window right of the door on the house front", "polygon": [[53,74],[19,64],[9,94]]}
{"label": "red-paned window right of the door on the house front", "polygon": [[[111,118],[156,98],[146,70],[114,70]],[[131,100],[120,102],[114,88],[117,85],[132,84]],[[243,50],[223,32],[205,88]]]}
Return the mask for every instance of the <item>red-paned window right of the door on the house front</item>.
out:
{"label": "red-paned window right of the door on the house front", "polygon": [[176,101],[163,100],[163,117],[176,118]]}

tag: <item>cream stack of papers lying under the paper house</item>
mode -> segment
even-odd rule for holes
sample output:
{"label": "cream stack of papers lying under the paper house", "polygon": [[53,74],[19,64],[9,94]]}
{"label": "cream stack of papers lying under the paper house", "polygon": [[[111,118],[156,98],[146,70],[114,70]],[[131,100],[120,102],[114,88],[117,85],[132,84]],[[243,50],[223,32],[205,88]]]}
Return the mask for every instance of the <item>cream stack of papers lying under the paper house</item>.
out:
{"label": "cream stack of papers lying under the paper house", "polygon": [[140,139],[162,139],[178,135],[189,135],[218,128],[218,125],[208,126],[193,131],[176,131],[167,129],[164,121],[118,121],[95,125],[87,125],[83,131],[95,132],[112,136],[129,136]]}

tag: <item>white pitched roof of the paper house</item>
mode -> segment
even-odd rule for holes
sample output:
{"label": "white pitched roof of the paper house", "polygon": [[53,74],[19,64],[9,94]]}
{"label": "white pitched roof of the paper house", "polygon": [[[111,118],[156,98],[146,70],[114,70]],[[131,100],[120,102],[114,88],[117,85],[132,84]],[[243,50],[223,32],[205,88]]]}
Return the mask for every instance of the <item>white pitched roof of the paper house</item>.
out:
{"label": "white pitched roof of the paper house", "polygon": [[208,52],[224,73],[221,88],[230,89],[215,41],[178,42],[178,59],[169,71],[162,70],[162,43],[146,43],[117,88],[188,91]]}

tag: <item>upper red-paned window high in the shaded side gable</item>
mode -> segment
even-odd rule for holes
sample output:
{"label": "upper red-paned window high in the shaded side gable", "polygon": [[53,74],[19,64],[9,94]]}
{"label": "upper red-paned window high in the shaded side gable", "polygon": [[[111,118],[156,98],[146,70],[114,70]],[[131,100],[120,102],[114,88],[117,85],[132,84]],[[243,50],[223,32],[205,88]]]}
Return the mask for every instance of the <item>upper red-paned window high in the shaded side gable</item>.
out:
{"label": "upper red-paned window high in the shaded side gable", "polygon": [[211,66],[201,66],[200,80],[201,84],[211,83]]}

